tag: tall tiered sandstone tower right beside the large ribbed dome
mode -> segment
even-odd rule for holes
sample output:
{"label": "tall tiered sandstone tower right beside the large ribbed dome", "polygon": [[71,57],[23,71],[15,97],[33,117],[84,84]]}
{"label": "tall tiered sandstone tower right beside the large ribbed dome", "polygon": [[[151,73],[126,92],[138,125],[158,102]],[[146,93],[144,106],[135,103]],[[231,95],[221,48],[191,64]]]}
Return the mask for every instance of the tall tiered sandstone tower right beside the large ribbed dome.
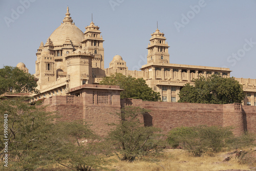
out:
{"label": "tall tiered sandstone tower right beside the large ribbed dome", "polygon": [[103,48],[103,38],[100,35],[100,30],[98,26],[95,26],[91,22],[90,26],[86,27],[86,32],[84,32],[84,38],[82,40],[82,49],[86,53],[94,54],[94,59],[92,61],[93,68],[104,69],[104,48]]}

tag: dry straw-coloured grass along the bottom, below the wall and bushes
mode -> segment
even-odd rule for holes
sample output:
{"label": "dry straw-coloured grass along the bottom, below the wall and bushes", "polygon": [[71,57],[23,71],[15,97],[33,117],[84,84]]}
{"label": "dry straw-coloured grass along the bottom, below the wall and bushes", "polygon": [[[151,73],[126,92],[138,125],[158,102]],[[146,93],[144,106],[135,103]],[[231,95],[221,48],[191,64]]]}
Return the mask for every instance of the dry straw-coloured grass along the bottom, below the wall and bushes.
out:
{"label": "dry straw-coloured grass along the bottom, below the wall and bushes", "polygon": [[[218,154],[205,154],[202,157],[194,157],[181,149],[166,150],[159,156],[150,156],[146,159],[139,159],[133,163],[117,161],[109,168],[115,171],[186,171],[186,170],[226,170],[226,169],[244,169],[250,170],[247,164],[239,164],[238,159],[231,158],[224,162],[224,158],[230,152]],[[254,166],[255,167],[255,166]]]}

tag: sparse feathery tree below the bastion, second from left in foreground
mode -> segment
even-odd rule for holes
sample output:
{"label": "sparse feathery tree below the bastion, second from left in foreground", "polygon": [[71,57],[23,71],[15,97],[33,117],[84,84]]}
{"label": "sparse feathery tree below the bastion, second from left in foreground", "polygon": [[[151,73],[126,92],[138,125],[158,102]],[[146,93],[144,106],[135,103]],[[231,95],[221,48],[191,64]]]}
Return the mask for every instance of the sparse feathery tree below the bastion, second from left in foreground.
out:
{"label": "sparse feathery tree below the bastion, second from left in foreground", "polygon": [[[59,122],[58,130],[62,135],[60,153],[55,160],[68,168],[90,171],[104,168],[111,160],[107,159],[112,154],[112,148],[106,141],[101,141],[82,121]],[[97,142],[94,142],[94,141]],[[86,142],[88,141],[88,142]]]}

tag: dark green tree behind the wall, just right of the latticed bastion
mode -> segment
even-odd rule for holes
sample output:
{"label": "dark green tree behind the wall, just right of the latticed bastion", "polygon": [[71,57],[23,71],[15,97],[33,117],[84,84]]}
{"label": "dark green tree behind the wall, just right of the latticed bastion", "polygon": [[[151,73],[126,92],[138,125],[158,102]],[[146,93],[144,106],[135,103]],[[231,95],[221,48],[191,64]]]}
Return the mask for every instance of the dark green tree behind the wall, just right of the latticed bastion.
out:
{"label": "dark green tree behind the wall, just right of the latticed bastion", "polygon": [[120,89],[124,89],[120,93],[120,98],[134,98],[145,101],[160,100],[160,94],[148,87],[143,78],[136,79],[130,75],[126,77],[121,73],[116,73],[110,77],[104,77],[100,84],[119,86]]}

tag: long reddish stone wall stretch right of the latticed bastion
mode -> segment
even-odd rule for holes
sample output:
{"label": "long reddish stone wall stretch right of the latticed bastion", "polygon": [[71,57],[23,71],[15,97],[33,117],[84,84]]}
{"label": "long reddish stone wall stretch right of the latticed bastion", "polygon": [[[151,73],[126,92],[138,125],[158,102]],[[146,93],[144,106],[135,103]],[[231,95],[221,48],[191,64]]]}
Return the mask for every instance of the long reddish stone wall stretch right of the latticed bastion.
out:
{"label": "long reddish stone wall stretch right of the latticed bastion", "polygon": [[[219,125],[232,126],[233,133],[256,133],[256,107],[234,104],[196,104],[150,102],[139,99],[121,99],[121,106],[141,106],[151,112],[144,115],[145,125],[160,127],[168,133],[178,126]],[[244,108],[244,112],[243,112]]]}

